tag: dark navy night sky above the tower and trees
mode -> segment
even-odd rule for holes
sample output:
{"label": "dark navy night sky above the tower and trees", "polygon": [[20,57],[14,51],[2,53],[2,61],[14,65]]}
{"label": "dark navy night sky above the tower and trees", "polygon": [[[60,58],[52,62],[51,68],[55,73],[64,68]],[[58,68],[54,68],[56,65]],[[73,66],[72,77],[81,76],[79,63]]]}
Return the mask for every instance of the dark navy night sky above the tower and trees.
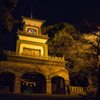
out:
{"label": "dark navy night sky above the tower and trees", "polygon": [[[12,15],[19,20],[21,16],[46,20],[46,25],[60,22],[79,24],[83,19],[100,15],[100,0],[19,0]],[[16,35],[11,32],[0,39],[0,47],[14,49]]]}

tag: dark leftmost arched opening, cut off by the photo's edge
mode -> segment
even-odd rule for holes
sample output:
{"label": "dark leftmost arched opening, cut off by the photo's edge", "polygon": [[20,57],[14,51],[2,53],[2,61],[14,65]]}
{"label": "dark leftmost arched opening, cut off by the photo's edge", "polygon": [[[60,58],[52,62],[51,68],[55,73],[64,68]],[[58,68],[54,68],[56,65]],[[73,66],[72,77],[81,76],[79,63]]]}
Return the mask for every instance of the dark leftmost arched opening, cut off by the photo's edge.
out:
{"label": "dark leftmost arched opening, cut off by the photo's edge", "polygon": [[15,75],[10,72],[0,74],[0,92],[13,92]]}

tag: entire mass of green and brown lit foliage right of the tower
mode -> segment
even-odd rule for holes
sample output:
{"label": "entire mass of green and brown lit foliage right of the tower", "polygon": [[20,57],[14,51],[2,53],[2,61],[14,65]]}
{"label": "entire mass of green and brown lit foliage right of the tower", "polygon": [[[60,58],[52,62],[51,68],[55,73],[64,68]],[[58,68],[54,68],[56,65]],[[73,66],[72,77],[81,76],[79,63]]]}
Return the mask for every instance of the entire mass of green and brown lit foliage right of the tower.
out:
{"label": "entire mass of green and brown lit foliage right of the tower", "polygon": [[[48,34],[50,37],[47,42],[49,54],[65,56],[68,61],[66,68],[70,72],[71,80],[74,79],[76,85],[87,86],[90,76],[92,76],[92,80],[96,80],[97,51],[93,45],[93,43],[97,43],[96,41],[89,42],[84,34],[68,23],[43,27],[42,33]],[[87,38],[89,37],[87,36]]]}

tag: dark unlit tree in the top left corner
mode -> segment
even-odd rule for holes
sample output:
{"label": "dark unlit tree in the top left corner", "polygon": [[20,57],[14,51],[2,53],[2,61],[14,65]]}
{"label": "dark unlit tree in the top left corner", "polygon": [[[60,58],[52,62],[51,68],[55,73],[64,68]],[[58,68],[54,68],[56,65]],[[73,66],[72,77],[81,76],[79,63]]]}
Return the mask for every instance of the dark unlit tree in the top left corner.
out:
{"label": "dark unlit tree in the top left corner", "polygon": [[0,37],[11,31],[17,21],[12,17],[11,11],[16,7],[18,0],[0,0]]}

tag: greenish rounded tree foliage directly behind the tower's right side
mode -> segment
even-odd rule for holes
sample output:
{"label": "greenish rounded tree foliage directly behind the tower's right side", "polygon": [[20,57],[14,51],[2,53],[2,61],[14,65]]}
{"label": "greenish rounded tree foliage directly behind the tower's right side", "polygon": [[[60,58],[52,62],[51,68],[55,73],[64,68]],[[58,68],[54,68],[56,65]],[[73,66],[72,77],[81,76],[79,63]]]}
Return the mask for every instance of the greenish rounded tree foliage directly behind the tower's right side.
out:
{"label": "greenish rounded tree foliage directly behind the tower's right side", "polygon": [[81,35],[73,25],[68,23],[43,27],[42,33],[48,34],[50,37],[47,42],[49,45],[49,54],[54,56],[63,56],[67,47],[71,47],[74,39],[77,40]]}

